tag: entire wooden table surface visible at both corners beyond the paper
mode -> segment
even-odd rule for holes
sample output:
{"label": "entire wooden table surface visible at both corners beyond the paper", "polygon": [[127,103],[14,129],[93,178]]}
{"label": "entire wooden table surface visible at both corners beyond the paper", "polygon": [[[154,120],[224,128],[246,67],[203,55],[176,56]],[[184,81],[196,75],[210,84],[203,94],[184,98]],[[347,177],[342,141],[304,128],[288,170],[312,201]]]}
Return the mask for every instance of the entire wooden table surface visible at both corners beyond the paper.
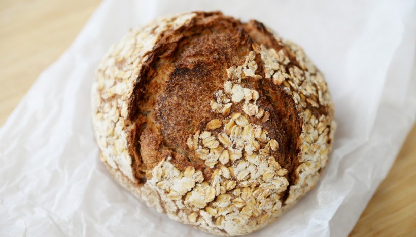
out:
{"label": "entire wooden table surface visible at both corners beyond the paper", "polygon": [[[0,1],[0,125],[74,41],[99,0]],[[416,126],[351,236],[416,236]]]}

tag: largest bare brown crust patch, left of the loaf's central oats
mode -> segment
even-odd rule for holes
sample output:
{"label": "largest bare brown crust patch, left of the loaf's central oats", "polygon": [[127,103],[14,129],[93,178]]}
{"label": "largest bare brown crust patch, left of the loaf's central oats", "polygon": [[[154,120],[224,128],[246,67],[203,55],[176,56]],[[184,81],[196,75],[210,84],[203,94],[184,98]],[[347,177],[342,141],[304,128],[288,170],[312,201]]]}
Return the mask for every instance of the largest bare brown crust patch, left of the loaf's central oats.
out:
{"label": "largest bare brown crust patch, left of the loaf's central oats", "polygon": [[[149,156],[149,159],[157,156],[160,161],[166,157],[160,154],[165,153],[172,155],[172,161],[181,169],[187,165],[202,168],[198,166],[198,159],[187,151],[187,136],[213,119],[215,114],[207,102],[221,87],[225,69],[241,63],[236,60],[244,59],[250,43],[248,35],[242,32],[242,23],[219,12],[198,12],[189,24],[164,32],[148,53],[149,60],[142,67],[129,105],[131,120],[146,114],[146,129],[137,135],[142,144],[163,141],[163,146],[157,150],[149,147],[153,153],[159,151],[159,155]],[[130,140],[131,144],[137,142]],[[133,157],[137,164],[148,164],[147,169],[158,163],[147,161],[143,154]],[[209,176],[211,172],[208,169],[204,173]],[[140,173],[135,170],[135,174]]]}

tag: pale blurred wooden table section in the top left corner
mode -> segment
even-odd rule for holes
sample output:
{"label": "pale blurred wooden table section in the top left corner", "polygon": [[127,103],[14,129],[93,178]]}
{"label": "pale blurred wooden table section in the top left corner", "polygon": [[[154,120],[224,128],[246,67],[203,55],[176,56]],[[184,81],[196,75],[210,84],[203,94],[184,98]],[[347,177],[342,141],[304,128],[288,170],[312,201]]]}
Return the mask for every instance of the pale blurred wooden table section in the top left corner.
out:
{"label": "pale blurred wooden table section in the top left corner", "polygon": [[74,41],[99,0],[0,1],[0,125]]}

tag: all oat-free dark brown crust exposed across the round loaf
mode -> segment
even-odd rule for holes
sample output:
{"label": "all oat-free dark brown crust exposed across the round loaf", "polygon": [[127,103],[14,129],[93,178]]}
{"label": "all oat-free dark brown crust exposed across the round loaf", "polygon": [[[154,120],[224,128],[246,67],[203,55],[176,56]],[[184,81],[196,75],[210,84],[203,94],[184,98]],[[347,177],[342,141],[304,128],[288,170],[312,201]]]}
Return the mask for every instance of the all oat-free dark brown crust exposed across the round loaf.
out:
{"label": "all oat-free dark brown crust exposed across the round loaf", "polygon": [[[241,23],[219,12],[199,12],[189,24],[164,33],[147,55],[150,60],[143,66],[130,100],[130,119],[146,117],[145,128],[132,130],[136,134],[129,141],[138,180],[144,180],[146,170],[167,155],[174,157],[171,162],[180,170],[188,165],[204,167],[203,161],[188,152],[186,139],[210,120],[225,117],[212,113],[209,102],[226,81],[225,70],[244,62],[253,42],[276,51],[283,48],[262,23]],[[292,58],[288,67],[291,64],[296,65],[296,60]],[[257,73],[261,75],[262,70],[260,67]],[[283,86],[276,87],[270,80],[247,80],[244,86],[262,91],[259,103],[272,117],[262,126],[281,144],[273,155],[291,174],[299,163],[301,132],[301,118],[292,98]],[[212,169],[203,170],[209,177]]]}

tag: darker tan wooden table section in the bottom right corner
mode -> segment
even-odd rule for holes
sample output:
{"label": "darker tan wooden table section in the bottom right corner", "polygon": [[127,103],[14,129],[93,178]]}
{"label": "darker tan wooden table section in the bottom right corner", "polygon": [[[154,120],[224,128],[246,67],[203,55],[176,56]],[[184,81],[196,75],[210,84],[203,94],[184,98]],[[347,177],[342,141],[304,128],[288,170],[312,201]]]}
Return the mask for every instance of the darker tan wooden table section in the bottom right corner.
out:
{"label": "darker tan wooden table section in the bottom right corner", "polygon": [[351,236],[416,236],[416,126]]}

